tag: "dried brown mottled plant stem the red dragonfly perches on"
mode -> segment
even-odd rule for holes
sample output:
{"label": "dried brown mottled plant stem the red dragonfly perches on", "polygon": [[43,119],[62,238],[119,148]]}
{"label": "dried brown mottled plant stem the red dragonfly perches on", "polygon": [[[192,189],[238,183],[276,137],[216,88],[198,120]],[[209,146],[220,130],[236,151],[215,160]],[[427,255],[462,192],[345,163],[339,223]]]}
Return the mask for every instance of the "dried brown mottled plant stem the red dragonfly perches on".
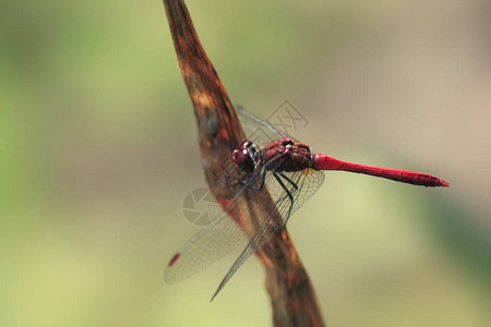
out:
{"label": "dried brown mottled plant stem the red dragonfly perches on", "polygon": [[[194,106],[202,162],[218,203],[225,207],[231,195],[217,182],[223,174],[221,160],[230,155],[246,137],[218,74],[206,56],[182,0],[164,0],[176,48],[177,60]],[[251,213],[267,213],[270,197],[248,196]],[[250,221],[256,217],[251,215]],[[243,221],[238,221],[239,226]],[[275,326],[324,326],[310,279],[286,229],[274,234],[256,256],[266,270],[266,289],[273,306]]]}

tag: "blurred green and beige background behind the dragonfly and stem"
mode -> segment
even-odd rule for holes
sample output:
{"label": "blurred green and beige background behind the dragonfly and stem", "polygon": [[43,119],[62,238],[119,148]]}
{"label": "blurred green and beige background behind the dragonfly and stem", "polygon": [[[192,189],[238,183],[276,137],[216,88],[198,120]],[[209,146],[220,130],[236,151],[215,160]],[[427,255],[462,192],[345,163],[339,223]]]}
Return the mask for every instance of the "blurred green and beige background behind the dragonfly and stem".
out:
{"label": "blurred green and beige background behind the dragonfly and stem", "polygon": [[[330,172],[289,230],[330,326],[491,326],[491,2],[189,0],[232,101],[429,190]],[[166,284],[205,185],[160,1],[0,11],[0,325],[270,326],[251,258]]]}

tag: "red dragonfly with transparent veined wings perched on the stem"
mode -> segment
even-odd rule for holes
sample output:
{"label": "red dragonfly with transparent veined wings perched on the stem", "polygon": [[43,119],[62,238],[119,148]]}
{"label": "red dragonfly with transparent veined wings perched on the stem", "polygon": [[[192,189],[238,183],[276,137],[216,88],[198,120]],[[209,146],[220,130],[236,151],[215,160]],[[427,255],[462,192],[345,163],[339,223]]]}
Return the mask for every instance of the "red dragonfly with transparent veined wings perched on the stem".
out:
{"label": "red dragonfly with transparent veined wings perched on the stem", "polygon": [[[167,282],[179,281],[248,241],[212,301],[240,266],[273,233],[284,228],[291,215],[321,187],[325,170],[369,174],[414,185],[448,186],[443,179],[428,173],[351,164],[312,153],[307,144],[246,110],[237,108],[237,112],[248,140],[226,158],[221,178],[224,187],[233,196],[211,225],[203,227],[176,252],[165,271]],[[248,201],[264,195],[270,196],[274,206],[261,213],[251,211]]]}

